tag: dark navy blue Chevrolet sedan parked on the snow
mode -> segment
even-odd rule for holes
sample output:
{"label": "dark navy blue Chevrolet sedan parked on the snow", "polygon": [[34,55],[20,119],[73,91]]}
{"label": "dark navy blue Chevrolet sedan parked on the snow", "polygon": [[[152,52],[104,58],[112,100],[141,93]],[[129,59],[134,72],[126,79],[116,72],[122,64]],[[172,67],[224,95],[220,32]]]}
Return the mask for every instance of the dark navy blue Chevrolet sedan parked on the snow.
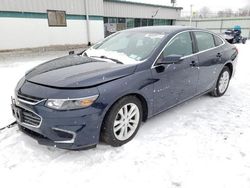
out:
{"label": "dark navy blue Chevrolet sedan parked on the snow", "polygon": [[238,51],[215,33],[180,26],[117,32],[79,54],[41,64],[18,82],[12,112],[38,143],[121,146],[142,121],[193,97],[222,96]]}

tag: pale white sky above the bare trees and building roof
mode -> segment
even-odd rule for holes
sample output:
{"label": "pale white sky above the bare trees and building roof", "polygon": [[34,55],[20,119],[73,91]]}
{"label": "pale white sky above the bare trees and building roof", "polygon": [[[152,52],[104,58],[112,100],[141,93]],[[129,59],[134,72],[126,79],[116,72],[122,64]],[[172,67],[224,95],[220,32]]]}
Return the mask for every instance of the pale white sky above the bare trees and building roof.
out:
{"label": "pale white sky above the bare trees and building roof", "polygon": [[[143,3],[171,5],[171,0],[131,0]],[[177,0],[177,6],[183,7],[183,12],[190,11],[190,5],[193,5],[193,10],[198,11],[206,6],[211,11],[224,10],[231,8],[236,11],[246,5],[250,5],[250,0]]]}

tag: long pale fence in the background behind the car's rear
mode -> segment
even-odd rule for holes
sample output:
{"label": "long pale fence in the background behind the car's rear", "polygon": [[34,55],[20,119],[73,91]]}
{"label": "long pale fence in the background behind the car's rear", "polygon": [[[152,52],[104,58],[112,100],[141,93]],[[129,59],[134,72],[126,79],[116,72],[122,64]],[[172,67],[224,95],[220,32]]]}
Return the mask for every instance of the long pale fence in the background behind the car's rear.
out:
{"label": "long pale fence in the background behind the car's rear", "polygon": [[[189,20],[176,20],[175,25],[189,26]],[[223,33],[226,29],[232,29],[235,25],[242,28],[242,36],[250,38],[250,17],[197,19],[192,21],[192,26],[211,30],[215,33]]]}

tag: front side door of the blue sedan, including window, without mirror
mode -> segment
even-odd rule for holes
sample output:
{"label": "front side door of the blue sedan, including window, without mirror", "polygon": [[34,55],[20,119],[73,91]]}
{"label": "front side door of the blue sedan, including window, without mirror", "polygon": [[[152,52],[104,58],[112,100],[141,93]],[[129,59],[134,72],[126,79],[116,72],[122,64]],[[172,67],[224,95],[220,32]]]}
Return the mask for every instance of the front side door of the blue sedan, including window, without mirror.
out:
{"label": "front side door of the blue sedan, including window, without mirror", "polygon": [[[159,113],[197,94],[198,57],[194,52],[193,37],[183,32],[170,40],[154,67],[154,111]],[[180,61],[166,63],[170,55],[181,55]]]}

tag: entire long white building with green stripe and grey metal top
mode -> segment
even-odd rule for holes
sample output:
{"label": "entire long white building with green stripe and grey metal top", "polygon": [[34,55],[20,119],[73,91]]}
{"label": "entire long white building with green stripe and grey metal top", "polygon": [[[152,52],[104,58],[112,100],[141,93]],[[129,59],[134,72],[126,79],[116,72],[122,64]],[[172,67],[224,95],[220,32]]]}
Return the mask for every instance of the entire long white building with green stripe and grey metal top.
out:
{"label": "entire long white building with green stripe and grey metal top", "polygon": [[96,43],[121,29],[172,25],[181,9],[114,0],[0,0],[0,51]]}

